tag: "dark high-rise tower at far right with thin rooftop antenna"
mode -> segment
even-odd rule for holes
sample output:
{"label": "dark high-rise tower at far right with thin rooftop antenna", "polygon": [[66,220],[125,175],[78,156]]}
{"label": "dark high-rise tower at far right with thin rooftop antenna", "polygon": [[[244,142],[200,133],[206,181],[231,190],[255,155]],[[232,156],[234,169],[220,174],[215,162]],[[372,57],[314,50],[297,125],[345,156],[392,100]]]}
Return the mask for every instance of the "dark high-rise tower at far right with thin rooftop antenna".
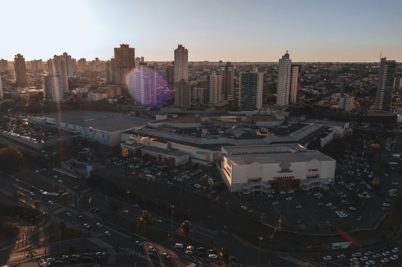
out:
{"label": "dark high-rise tower at far right with thin rooftop antenna", "polygon": [[375,109],[389,111],[391,108],[392,92],[394,88],[396,62],[381,58],[377,94],[375,96]]}

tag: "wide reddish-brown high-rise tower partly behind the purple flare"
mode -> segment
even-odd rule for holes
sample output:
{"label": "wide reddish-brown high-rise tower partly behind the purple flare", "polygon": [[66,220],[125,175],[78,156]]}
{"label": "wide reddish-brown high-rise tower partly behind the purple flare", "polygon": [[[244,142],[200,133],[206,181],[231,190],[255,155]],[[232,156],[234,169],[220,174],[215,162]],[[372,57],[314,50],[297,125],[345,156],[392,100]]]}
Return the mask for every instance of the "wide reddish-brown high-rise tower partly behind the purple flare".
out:
{"label": "wide reddish-brown high-rise tower partly behind the purple flare", "polygon": [[114,59],[116,61],[116,83],[126,84],[126,76],[135,66],[135,48],[130,48],[128,44],[120,44],[119,48],[114,48]]}

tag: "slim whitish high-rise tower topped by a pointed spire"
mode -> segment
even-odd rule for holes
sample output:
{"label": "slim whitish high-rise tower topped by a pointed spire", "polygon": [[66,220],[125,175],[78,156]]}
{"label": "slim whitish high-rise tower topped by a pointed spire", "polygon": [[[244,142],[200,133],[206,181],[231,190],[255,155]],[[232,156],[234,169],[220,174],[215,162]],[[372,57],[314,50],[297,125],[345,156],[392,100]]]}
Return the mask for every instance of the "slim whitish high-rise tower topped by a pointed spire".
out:
{"label": "slim whitish high-rise tower topped by a pointed spire", "polygon": [[278,66],[278,90],[276,92],[276,106],[286,107],[289,104],[290,76],[292,60],[289,58],[288,51],[279,59]]}

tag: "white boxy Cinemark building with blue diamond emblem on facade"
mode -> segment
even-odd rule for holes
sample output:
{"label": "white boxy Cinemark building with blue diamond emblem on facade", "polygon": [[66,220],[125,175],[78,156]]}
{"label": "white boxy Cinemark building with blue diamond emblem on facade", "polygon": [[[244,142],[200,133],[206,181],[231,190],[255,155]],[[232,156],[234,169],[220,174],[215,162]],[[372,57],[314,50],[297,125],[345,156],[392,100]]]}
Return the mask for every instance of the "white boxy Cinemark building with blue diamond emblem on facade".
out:
{"label": "white boxy Cinemark building with blue diamond emblem on facade", "polygon": [[268,193],[271,189],[327,190],[336,161],[299,144],[223,146],[217,169],[231,192]]}

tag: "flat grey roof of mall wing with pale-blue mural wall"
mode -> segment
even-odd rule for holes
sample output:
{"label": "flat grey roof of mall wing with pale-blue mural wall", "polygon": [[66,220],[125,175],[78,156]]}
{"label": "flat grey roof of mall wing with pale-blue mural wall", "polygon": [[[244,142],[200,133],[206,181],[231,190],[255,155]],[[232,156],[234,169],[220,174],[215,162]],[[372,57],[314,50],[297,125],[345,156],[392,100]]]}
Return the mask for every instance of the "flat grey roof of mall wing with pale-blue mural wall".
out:
{"label": "flat grey roof of mall wing with pale-blue mural wall", "polygon": [[124,116],[116,112],[84,112],[69,111],[50,113],[44,115],[47,118],[54,118],[59,122],[73,124],[83,127],[92,127],[102,131],[118,131],[146,125],[152,120],[138,117]]}

